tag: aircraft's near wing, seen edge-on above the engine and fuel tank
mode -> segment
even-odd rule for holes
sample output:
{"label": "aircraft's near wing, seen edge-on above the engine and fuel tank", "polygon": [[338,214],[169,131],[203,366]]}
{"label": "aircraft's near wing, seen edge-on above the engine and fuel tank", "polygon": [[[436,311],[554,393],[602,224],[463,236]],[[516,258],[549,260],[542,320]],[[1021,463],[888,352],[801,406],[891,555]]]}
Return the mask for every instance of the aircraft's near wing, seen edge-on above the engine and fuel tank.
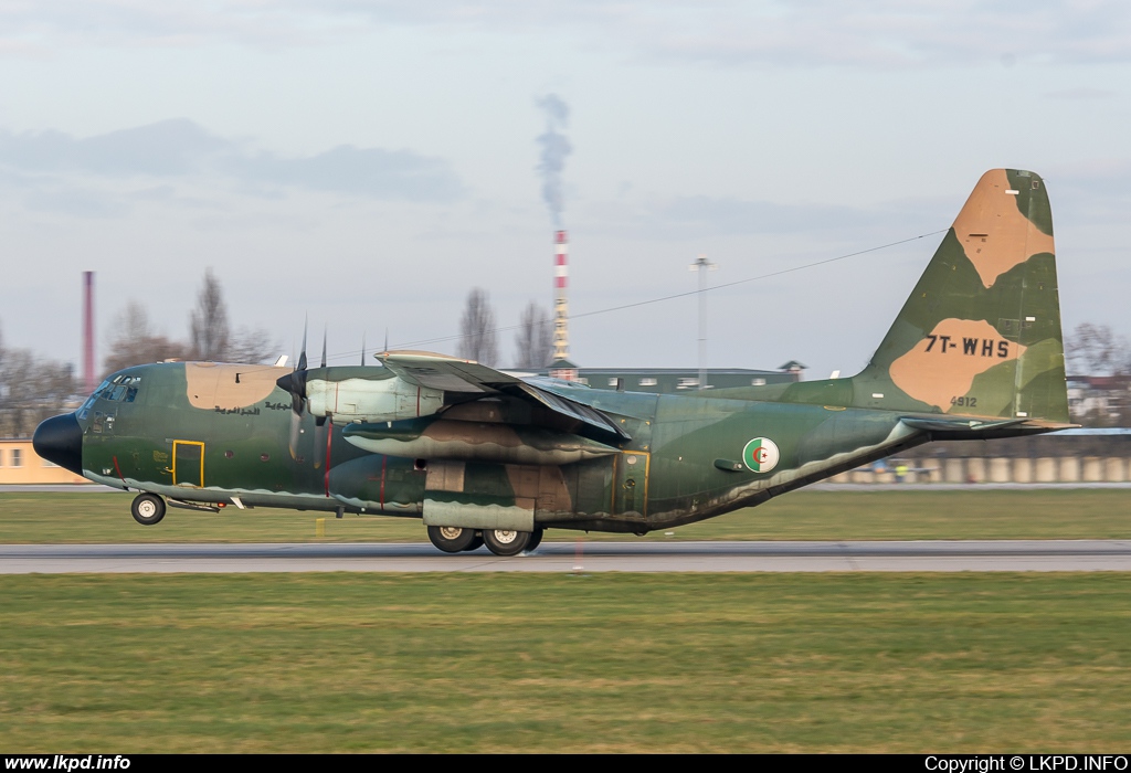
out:
{"label": "aircraft's near wing, seen edge-on above the engine and fuel tank", "polygon": [[476,362],[423,351],[386,351],[377,358],[399,379],[417,386],[468,396],[506,394],[578,422],[602,435],[629,438],[624,429],[596,408],[538,389],[517,376]]}

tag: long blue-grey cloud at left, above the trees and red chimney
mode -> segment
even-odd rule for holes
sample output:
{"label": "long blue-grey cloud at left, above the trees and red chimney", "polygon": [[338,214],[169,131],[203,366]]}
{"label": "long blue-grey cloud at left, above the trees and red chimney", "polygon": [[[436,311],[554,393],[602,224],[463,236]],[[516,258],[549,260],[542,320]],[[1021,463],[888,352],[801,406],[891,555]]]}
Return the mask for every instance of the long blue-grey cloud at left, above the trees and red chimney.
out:
{"label": "long blue-grey cloud at left, above the trees and red chimney", "polygon": [[89,138],[0,131],[0,180],[42,186],[86,176],[156,180],[221,176],[244,186],[301,188],[404,201],[452,201],[463,185],[449,164],[411,150],[339,146],[287,158],[210,134],[185,119]]}

